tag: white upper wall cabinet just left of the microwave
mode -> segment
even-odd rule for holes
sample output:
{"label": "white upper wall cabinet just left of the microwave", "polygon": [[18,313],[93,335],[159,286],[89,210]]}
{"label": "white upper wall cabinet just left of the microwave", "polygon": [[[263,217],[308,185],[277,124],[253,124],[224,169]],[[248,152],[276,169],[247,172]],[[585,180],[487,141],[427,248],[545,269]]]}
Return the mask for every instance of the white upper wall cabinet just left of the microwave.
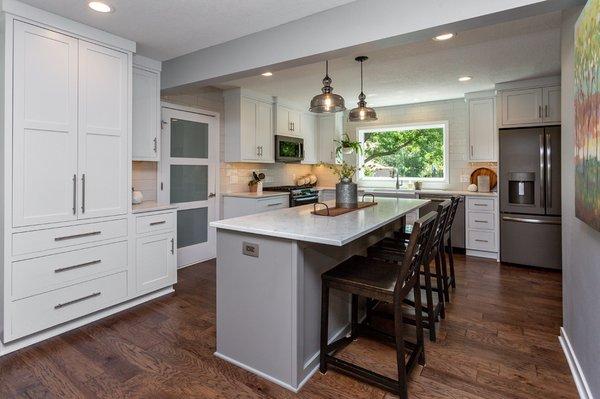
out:
{"label": "white upper wall cabinet just left of the microwave", "polygon": [[275,162],[273,103],[241,89],[225,97],[225,162]]}

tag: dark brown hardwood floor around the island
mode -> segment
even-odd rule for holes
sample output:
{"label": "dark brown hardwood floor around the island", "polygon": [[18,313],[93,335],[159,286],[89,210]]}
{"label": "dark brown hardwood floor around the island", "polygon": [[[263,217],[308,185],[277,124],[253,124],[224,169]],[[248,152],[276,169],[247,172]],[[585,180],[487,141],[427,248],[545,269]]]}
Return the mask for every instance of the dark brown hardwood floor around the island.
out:
{"label": "dark brown hardwood floor around the island", "polygon": [[[457,288],[411,398],[577,398],[557,336],[561,274],[457,256]],[[215,265],[179,271],[176,292],[0,358],[0,398],[392,398],[335,371],[295,395],[213,356]],[[368,340],[349,356],[393,375]]]}

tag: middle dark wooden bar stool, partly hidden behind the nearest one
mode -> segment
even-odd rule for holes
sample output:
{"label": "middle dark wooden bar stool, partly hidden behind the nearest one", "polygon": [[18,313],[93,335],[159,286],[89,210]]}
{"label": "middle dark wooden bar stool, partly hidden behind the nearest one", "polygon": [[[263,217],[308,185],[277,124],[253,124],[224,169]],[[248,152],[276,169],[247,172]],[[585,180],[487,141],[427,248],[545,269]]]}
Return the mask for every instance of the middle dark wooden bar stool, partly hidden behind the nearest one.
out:
{"label": "middle dark wooden bar stool, partly hidden behind the nearest one", "polygon": [[[448,222],[450,216],[451,207],[452,201],[450,200],[443,201],[438,205],[438,215],[435,221],[432,242],[429,246],[429,250],[425,256],[423,256],[421,266],[421,274],[423,276],[421,281],[421,290],[422,295],[425,295],[426,298],[426,306],[423,308],[423,313],[426,319],[423,321],[423,327],[429,330],[429,339],[431,341],[436,340],[435,323],[439,321],[440,318],[443,319],[446,316],[444,306],[444,287],[442,285],[441,274],[441,259],[444,254],[440,252],[440,248],[442,247],[441,244],[446,232],[446,223]],[[398,244],[397,240],[382,240],[381,243],[373,245],[368,249],[368,256],[388,262],[398,262],[402,261],[405,251],[406,246],[403,243]],[[432,260],[435,261],[435,273],[431,272]],[[436,281],[435,288],[432,285],[432,278],[435,278]],[[434,292],[437,293],[436,297],[433,295]],[[410,296],[404,300],[404,303],[407,303],[413,307],[415,306],[414,300]],[[389,318],[389,312],[387,312],[387,314],[382,314],[381,312],[377,312],[376,309],[371,310],[371,312],[375,315]],[[405,315],[405,318],[407,321],[414,322],[414,317],[411,316],[412,315],[407,314]]]}

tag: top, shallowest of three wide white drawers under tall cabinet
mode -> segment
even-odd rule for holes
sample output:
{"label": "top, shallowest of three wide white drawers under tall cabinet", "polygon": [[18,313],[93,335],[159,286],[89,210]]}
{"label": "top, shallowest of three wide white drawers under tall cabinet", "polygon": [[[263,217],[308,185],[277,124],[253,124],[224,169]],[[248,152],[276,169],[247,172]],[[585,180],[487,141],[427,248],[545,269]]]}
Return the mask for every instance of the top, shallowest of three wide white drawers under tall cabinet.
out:
{"label": "top, shallowest of three wide white drawers under tall cabinet", "polygon": [[65,248],[127,236],[127,219],[15,233],[13,255]]}

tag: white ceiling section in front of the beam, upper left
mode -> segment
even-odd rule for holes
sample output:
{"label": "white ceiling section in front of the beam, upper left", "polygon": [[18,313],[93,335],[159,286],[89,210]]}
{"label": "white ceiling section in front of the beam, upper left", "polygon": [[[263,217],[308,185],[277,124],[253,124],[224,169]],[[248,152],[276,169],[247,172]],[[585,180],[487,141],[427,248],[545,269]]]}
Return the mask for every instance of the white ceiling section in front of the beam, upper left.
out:
{"label": "white ceiling section in front of the beam, upper left", "polygon": [[111,14],[87,0],[21,1],[133,40],[139,54],[164,61],[353,0],[106,0]]}

